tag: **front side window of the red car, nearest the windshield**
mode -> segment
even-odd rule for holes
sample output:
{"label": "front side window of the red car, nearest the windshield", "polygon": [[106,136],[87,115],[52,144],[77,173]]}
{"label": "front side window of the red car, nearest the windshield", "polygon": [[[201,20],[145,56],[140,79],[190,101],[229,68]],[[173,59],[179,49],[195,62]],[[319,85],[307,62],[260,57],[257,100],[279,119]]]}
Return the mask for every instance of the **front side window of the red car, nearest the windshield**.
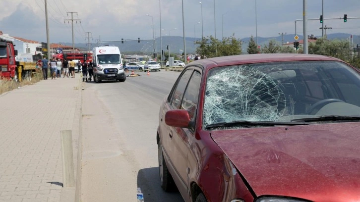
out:
{"label": "front side window of the red car, nearest the windshield", "polygon": [[184,96],[181,102],[181,109],[186,109],[189,112],[190,119],[194,117],[197,101],[199,97],[199,87],[201,81],[201,74],[197,71],[194,71],[192,74],[187,88],[185,90]]}

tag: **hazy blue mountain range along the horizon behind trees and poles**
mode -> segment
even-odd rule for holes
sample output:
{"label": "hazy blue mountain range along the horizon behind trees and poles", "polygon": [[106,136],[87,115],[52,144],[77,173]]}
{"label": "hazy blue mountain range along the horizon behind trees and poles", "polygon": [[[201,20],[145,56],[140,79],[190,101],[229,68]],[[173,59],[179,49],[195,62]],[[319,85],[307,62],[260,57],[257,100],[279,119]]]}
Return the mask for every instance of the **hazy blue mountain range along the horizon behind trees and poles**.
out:
{"label": "hazy blue mountain range along the horizon behind trees and poles", "polygon": [[[328,34],[327,38],[329,40],[349,40],[351,39],[352,35],[351,34],[347,34],[347,33],[334,33],[334,34]],[[283,36],[279,35],[276,37],[258,37],[257,38],[257,42],[258,45],[260,45],[261,47],[264,46],[265,44],[268,44],[270,40],[275,40],[277,41],[279,44],[282,44],[284,42],[284,44],[290,43],[292,44],[293,42],[295,42],[295,34],[284,34]],[[303,39],[303,36],[298,35],[299,40]],[[317,38],[320,38],[321,36],[315,36]],[[195,41],[199,41],[201,40],[201,38],[191,38],[191,37],[186,37],[186,53],[189,54],[193,54],[194,50],[195,50]],[[246,52],[246,48],[248,46],[248,42],[250,40],[250,37],[247,38],[243,38],[240,39],[242,41],[242,51]],[[254,40],[255,37],[254,37]],[[169,51],[167,50],[166,46],[169,45],[170,51],[171,53],[180,53],[181,51],[183,51],[183,38],[179,37],[179,36],[163,36],[162,40],[160,40],[160,37],[156,38],[156,50],[157,52],[160,52],[159,48],[160,48],[160,44],[162,41],[162,45],[163,45],[163,50],[164,51]],[[117,42],[111,42],[111,43],[107,43],[109,45],[115,45],[118,46],[120,51],[125,53],[125,54],[132,54],[135,52],[142,52],[144,54],[152,54],[154,52],[154,48],[153,48],[153,40],[149,40],[149,41],[140,41],[140,43],[138,43],[137,41],[125,41],[123,43],[121,43],[121,41],[117,41]],[[71,43],[61,43],[63,45],[66,46],[72,46]],[[360,35],[353,35],[353,45],[354,47],[356,47],[357,44],[360,44]],[[91,44],[91,47],[95,47],[97,46],[96,44]],[[197,45],[196,45],[197,46]],[[75,44],[76,48],[79,49],[83,49],[83,50],[88,50],[88,44]]]}

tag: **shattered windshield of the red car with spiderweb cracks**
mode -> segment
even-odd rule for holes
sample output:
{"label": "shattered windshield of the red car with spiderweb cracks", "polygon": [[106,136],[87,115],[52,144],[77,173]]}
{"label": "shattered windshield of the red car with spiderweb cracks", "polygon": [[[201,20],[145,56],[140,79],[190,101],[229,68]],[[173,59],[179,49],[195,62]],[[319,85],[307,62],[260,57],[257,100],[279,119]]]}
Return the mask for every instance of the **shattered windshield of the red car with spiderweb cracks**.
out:
{"label": "shattered windshield of the red car with spiderweb cracks", "polygon": [[203,123],[359,116],[358,92],[359,74],[337,61],[218,67],[207,77]]}

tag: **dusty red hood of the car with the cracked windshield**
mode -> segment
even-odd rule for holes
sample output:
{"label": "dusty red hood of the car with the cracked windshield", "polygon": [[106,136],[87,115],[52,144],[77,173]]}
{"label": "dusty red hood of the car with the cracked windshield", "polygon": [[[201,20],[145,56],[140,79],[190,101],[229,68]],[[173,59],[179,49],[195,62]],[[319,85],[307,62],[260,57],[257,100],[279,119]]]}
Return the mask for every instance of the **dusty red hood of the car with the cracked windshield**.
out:
{"label": "dusty red hood of the car with the cracked windshield", "polygon": [[360,201],[360,123],[211,131],[256,196]]}

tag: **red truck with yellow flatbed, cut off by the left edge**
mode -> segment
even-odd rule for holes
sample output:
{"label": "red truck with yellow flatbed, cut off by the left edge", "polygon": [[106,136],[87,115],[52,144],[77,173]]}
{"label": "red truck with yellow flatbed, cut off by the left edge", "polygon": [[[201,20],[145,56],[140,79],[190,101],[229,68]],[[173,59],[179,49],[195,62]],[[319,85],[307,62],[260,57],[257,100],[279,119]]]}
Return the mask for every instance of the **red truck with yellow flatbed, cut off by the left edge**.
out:
{"label": "red truck with yellow flatbed, cut off by the left edge", "polygon": [[22,81],[24,78],[31,78],[36,72],[37,62],[33,62],[32,56],[16,59],[17,50],[12,41],[0,38],[0,78]]}

